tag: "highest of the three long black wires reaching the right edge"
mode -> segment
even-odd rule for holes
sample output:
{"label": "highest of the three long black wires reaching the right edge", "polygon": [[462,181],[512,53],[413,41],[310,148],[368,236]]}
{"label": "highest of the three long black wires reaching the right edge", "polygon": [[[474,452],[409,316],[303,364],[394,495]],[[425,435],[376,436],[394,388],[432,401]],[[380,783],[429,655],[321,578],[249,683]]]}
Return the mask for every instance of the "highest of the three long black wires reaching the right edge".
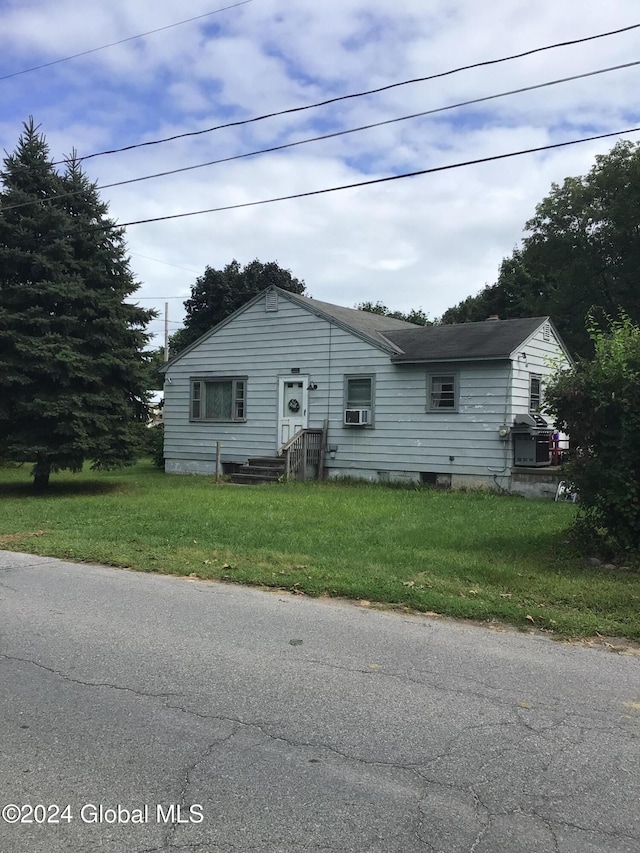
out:
{"label": "highest of the three long black wires reaching the right edge", "polygon": [[[106,149],[104,151],[96,151],[93,154],[85,154],[84,157],[79,157],[78,160],[79,161],[90,160],[93,157],[102,157],[102,156],[107,155],[107,154],[119,154],[123,151],[132,151],[136,148],[144,148],[144,147],[150,146],[150,145],[162,145],[165,142],[174,142],[176,139],[185,139],[185,138],[191,137],[191,136],[202,136],[203,134],[206,134],[206,133],[213,133],[213,131],[215,131],[215,130],[223,130],[224,128],[228,128],[228,127],[240,127],[242,125],[252,124],[252,123],[258,122],[258,121],[264,121],[265,119],[268,119],[268,118],[276,118],[277,116],[291,115],[292,113],[304,112],[305,110],[313,110],[313,109],[317,109],[318,107],[327,106],[328,104],[335,104],[338,101],[347,101],[347,100],[351,100],[354,98],[362,98],[362,97],[365,97],[366,95],[374,95],[374,94],[378,94],[380,92],[387,92],[390,89],[396,89],[396,88],[399,88],[400,86],[409,86],[409,85],[412,85],[414,83],[425,83],[429,80],[438,80],[442,77],[449,77],[453,74],[458,74],[461,71],[470,71],[474,68],[484,68],[484,67],[488,67],[491,65],[497,65],[501,62],[509,62],[511,60],[514,60],[514,59],[522,59],[525,56],[532,56],[536,53],[542,53],[543,51],[546,51],[546,50],[555,50],[555,49],[561,48],[561,47],[570,47],[571,45],[574,45],[574,44],[583,44],[585,42],[594,41],[596,39],[606,38],[608,36],[619,35],[620,33],[630,32],[631,30],[638,29],[638,27],[640,27],[640,24],[631,24],[627,27],[620,27],[619,29],[609,30],[605,33],[597,33],[597,34],[592,35],[592,36],[585,36],[585,37],[579,38],[579,39],[571,39],[569,41],[554,42],[553,44],[548,44],[548,45],[544,45],[542,47],[532,48],[531,50],[525,50],[522,53],[514,53],[514,54],[511,54],[509,56],[500,57],[498,59],[487,59],[487,60],[483,60],[482,62],[474,62],[470,65],[461,65],[457,68],[452,68],[449,71],[441,71],[437,74],[429,74],[426,77],[414,77],[411,80],[402,80],[398,83],[389,83],[386,86],[379,86],[376,89],[367,89],[364,92],[352,92],[351,94],[348,94],[348,95],[339,95],[335,98],[327,98],[324,101],[318,101],[314,104],[306,104],[306,105],[301,106],[301,107],[289,107],[288,109],[285,109],[285,110],[279,110],[279,111],[273,112],[273,113],[265,113],[263,115],[253,116],[252,118],[248,118],[248,119],[239,119],[238,121],[230,121],[230,122],[226,122],[225,124],[215,125],[214,127],[207,127],[207,128],[202,129],[202,130],[192,130],[192,131],[188,131],[186,133],[177,133],[177,134],[174,134],[173,136],[165,136],[162,139],[151,139],[151,140],[148,140],[146,142],[137,142],[137,143],[132,144],[132,145],[125,145],[122,148],[110,148],[110,149]],[[58,161],[58,162],[64,162],[64,161]],[[57,164],[55,164],[55,165],[57,165]]]}

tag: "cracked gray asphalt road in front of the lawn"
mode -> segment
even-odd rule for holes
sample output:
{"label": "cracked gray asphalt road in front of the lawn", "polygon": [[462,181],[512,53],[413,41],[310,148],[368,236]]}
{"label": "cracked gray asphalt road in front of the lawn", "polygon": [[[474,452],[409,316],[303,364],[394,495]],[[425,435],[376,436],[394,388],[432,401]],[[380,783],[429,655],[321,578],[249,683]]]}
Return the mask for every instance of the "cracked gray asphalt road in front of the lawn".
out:
{"label": "cracked gray asphalt road in front of the lawn", "polygon": [[2,853],[640,850],[636,657],[0,552],[0,678]]}

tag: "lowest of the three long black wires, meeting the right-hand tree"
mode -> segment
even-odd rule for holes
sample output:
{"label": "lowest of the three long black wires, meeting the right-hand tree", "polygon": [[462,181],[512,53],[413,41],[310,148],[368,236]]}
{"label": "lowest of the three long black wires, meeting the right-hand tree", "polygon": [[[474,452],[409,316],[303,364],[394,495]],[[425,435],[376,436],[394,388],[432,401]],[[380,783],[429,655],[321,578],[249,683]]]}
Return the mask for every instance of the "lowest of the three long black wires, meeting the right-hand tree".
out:
{"label": "lowest of the three long black wires, meeting the right-hand tree", "polygon": [[594,136],[584,136],[582,139],[571,139],[567,142],[555,142],[551,145],[539,145],[535,148],[523,148],[520,151],[510,151],[508,154],[494,154],[490,157],[479,157],[475,160],[464,160],[459,163],[450,163],[447,166],[435,166],[431,169],[419,169],[415,172],[404,172],[401,175],[388,175],[385,178],[372,178],[368,181],[357,181],[353,184],[342,184],[337,187],[326,187],[321,190],[311,190],[310,192],[305,193],[294,193],[293,195],[284,195],[277,196],[276,198],[265,198],[260,201],[246,201],[240,204],[227,204],[222,207],[210,207],[205,210],[191,210],[188,213],[173,213],[168,216],[154,216],[150,219],[136,219],[131,222],[121,222],[117,225],[104,225],[104,226],[95,226],[97,228],[104,228],[104,230],[111,230],[113,228],[127,228],[131,225],[146,225],[150,222],[166,222],[169,219],[184,219],[187,216],[199,216],[204,213],[220,213],[224,210],[240,210],[245,207],[257,207],[258,205],[263,204],[274,204],[278,201],[290,201],[292,199],[297,198],[310,198],[311,196],[316,195],[326,195],[327,193],[340,192],[341,190],[350,190],[356,189],[357,187],[368,187],[373,186],[374,184],[384,184],[389,183],[391,181],[400,181],[403,178],[416,178],[419,175],[432,175],[436,172],[446,172],[451,169],[461,169],[463,166],[475,166],[480,163],[491,163],[496,160],[506,160],[510,157],[519,157],[522,154],[535,154],[540,151],[551,151],[554,148],[566,148],[569,145],[579,145],[582,142],[594,142],[597,139],[609,139],[612,136],[622,136],[626,133],[638,133],[640,132],[640,127],[630,127],[626,130],[615,130],[611,133],[598,133]]}

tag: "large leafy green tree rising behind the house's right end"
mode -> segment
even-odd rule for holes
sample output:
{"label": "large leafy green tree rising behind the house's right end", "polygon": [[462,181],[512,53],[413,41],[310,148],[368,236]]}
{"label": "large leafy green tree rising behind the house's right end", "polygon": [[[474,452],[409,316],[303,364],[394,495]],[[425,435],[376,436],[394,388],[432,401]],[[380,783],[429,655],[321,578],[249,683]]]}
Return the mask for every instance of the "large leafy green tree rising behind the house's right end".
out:
{"label": "large leafy green tree rising behind the house's right end", "polygon": [[587,315],[640,321],[640,145],[618,142],[584,177],[553,184],[495,284],[442,322],[550,315],[576,355],[592,355]]}

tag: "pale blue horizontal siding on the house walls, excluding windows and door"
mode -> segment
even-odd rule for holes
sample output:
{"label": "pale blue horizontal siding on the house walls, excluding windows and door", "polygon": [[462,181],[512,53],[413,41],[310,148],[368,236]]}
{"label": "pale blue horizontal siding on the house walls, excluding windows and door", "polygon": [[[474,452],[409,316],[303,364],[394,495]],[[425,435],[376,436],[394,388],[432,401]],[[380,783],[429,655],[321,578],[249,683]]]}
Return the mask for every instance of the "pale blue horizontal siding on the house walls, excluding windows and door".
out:
{"label": "pale blue horizontal siding on the house walls, excluding windows and door", "polygon": [[[515,411],[527,411],[530,370],[543,367],[554,342],[527,343],[527,370],[514,359],[447,365],[399,365],[390,354],[285,298],[265,311],[264,297],[170,365],[165,382],[165,458],[168,469],[215,459],[224,462],[273,456],[277,450],[278,379],[291,369],[308,376],[308,424],[329,421],[328,444],[337,447],[326,465],[353,476],[379,471],[491,477],[511,467],[510,441],[499,438]],[[531,366],[535,365],[535,366]],[[526,384],[525,384],[526,372]],[[429,373],[455,373],[456,412],[427,411]],[[344,427],[345,376],[375,378],[373,425]],[[189,421],[190,379],[246,376],[246,422]],[[514,392],[509,392],[511,375]],[[205,470],[206,466],[202,466]],[[209,469],[210,470],[210,469]]]}

